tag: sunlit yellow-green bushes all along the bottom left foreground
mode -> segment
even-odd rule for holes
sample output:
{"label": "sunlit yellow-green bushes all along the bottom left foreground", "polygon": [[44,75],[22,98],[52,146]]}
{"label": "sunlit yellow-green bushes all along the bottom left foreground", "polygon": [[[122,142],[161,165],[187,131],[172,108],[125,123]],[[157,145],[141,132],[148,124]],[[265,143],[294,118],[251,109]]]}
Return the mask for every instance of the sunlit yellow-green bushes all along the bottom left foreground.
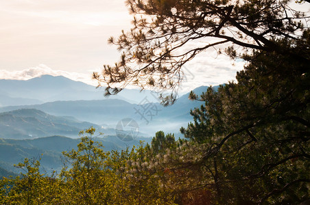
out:
{"label": "sunlit yellow-green bushes all along the bottom left foreground", "polygon": [[142,143],[132,150],[104,152],[94,134],[93,127],[80,132],[78,150],[63,152],[59,175],[40,174],[40,160],[16,165],[25,174],[0,180],[0,204],[174,204],[158,178],[126,171],[130,161],[143,159]]}

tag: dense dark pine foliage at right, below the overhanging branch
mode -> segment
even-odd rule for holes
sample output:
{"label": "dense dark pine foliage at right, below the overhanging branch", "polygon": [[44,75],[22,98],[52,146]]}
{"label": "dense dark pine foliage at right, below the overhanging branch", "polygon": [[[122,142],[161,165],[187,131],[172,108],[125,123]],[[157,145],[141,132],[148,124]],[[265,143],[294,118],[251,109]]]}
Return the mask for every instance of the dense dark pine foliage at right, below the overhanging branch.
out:
{"label": "dense dark pine foliage at right, below the overhanging branch", "polygon": [[226,203],[302,202],[310,182],[309,73],[287,55],[254,55],[237,83],[191,94],[206,103],[181,130],[206,146],[201,163]]}

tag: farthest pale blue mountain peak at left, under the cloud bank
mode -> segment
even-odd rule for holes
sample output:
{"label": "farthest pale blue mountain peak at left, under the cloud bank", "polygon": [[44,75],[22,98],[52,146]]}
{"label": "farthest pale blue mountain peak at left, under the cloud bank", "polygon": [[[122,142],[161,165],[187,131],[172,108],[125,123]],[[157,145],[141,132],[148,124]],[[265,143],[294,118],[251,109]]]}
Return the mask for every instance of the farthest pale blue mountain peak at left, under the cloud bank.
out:
{"label": "farthest pale blue mountain peak at left, under the cloud bank", "polygon": [[[62,76],[43,75],[27,81],[0,80],[0,92],[10,98],[32,98],[42,102],[103,98],[103,92]],[[0,103],[1,103],[0,98]]]}

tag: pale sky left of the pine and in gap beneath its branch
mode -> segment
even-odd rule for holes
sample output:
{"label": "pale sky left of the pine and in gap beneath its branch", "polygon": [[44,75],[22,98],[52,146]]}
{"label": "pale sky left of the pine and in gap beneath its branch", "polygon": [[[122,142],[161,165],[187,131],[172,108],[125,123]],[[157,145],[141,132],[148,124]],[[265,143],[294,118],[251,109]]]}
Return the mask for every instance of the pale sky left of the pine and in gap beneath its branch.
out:
{"label": "pale sky left of the pine and in gap beneath its branch", "polygon": [[[96,85],[91,74],[120,57],[107,43],[132,27],[123,0],[0,0],[0,79],[63,75]],[[183,67],[180,92],[235,79],[243,61],[213,50]]]}

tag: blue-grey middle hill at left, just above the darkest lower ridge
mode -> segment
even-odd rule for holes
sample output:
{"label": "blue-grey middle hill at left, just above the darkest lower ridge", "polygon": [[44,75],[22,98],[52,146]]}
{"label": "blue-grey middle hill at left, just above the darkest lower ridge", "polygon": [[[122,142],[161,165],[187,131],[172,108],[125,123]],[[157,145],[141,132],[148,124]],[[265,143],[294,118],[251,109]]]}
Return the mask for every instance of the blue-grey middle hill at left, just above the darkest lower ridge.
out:
{"label": "blue-grey middle hill at left, just above the darkest lower ridge", "polygon": [[18,109],[0,113],[0,138],[25,139],[50,135],[78,137],[79,131],[90,126],[73,118],[56,117],[37,109]]}

